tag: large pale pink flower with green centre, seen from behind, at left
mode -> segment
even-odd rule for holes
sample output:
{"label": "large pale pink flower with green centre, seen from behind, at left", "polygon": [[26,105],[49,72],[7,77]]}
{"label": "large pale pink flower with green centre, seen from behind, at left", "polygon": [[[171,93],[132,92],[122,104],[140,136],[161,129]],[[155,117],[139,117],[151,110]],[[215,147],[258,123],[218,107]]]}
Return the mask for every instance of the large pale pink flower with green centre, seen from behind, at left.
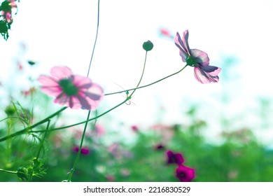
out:
{"label": "large pale pink flower with green centre, seen from behind, at left", "polygon": [[41,90],[55,96],[55,103],[69,106],[71,109],[96,109],[104,96],[102,87],[92,83],[87,77],[73,75],[67,66],[54,66],[52,76],[41,75]]}

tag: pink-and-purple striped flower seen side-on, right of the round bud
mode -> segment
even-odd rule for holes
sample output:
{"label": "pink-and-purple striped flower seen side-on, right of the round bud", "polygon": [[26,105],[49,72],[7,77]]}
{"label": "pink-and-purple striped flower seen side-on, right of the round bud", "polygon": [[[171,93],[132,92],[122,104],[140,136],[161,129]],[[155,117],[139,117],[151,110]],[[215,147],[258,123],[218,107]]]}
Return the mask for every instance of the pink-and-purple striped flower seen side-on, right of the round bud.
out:
{"label": "pink-and-purple striped flower seen side-on, right of the round bud", "polygon": [[221,68],[209,65],[209,57],[206,52],[197,49],[190,49],[188,45],[188,30],[183,32],[182,38],[176,33],[175,45],[179,48],[182,61],[189,66],[194,66],[195,78],[200,83],[216,83],[219,80],[218,74]]}

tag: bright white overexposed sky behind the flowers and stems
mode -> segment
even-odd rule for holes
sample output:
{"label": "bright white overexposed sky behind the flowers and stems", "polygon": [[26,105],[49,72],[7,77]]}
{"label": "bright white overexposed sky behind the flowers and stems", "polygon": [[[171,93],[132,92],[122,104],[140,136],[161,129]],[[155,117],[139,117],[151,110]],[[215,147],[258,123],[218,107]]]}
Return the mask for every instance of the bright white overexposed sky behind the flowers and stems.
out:
{"label": "bright white overexposed sky behind the flowers and stems", "polygon": [[[143,84],[174,73],[183,66],[179,50],[172,41],[158,36],[158,29],[166,27],[174,34],[188,29],[190,48],[207,52],[211,65],[223,63],[224,56],[237,57],[238,63],[232,71],[240,77],[232,81],[234,92],[230,92],[235,102],[225,115],[247,114],[248,107],[255,107],[255,96],[273,97],[269,87],[272,85],[272,18],[273,1],[270,0],[102,0],[99,38],[90,77],[106,93],[122,90],[118,85],[125,89],[134,87],[144,63],[145,51],[141,45],[147,40],[153,41],[155,47],[148,54]],[[39,62],[32,73],[34,77],[48,73],[55,65],[66,65],[75,73],[86,75],[96,25],[97,1],[21,1],[10,38],[7,42],[0,41],[0,65],[10,66],[10,57],[18,55],[18,45],[24,42],[25,58]],[[4,84],[10,69],[2,70]],[[230,84],[221,83],[221,79],[220,83],[202,85],[189,67],[178,76],[139,90],[132,99],[135,105],[123,106],[113,115],[127,120],[128,125],[145,126],[159,121],[183,123],[181,111],[188,106],[182,102],[186,104],[190,100],[200,103],[204,108],[201,117],[212,119],[212,130],[218,130],[218,122],[213,119],[223,109],[217,100],[227,85]],[[112,105],[111,101],[120,100],[122,97],[118,95],[106,97],[105,102]],[[158,114],[158,104],[167,113]],[[269,115],[272,117],[272,112]],[[253,118],[252,113],[249,119]],[[249,119],[243,120],[244,123],[249,123]],[[269,139],[273,141],[273,137]]]}

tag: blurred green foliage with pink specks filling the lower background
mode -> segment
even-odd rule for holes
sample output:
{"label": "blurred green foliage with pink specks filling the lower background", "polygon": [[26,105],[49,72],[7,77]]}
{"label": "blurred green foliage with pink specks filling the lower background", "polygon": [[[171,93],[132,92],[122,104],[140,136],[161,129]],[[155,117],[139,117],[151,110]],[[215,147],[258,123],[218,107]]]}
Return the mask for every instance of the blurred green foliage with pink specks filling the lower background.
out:
{"label": "blurred green foliage with pink specks filling the lower background", "polygon": [[[9,119],[11,120],[11,119]],[[221,144],[209,144],[202,136],[207,126],[202,120],[190,125],[155,125],[147,130],[128,130],[134,142],[113,141],[111,130],[104,135],[87,134],[85,148],[72,181],[178,181],[175,165],[167,165],[165,152],[182,153],[184,165],[195,169],[193,181],[273,181],[273,151],[262,146],[251,130],[241,129],[221,134]],[[0,132],[5,132],[1,128]],[[79,144],[76,131],[50,132],[41,162],[46,174],[33,176],[31,181],[63,181],[73,166]],[[3,136],[3,134],[1,134]],[[38,151],[37,138],[43,134],[22,135],[0,143],[0,168],[17,171],[29,168]],[[164,148],[158,149],[162,145]],[[33,171],[32,171],[33,172]],[[24,181],[15,174],[0,172],[0,181]]]}

